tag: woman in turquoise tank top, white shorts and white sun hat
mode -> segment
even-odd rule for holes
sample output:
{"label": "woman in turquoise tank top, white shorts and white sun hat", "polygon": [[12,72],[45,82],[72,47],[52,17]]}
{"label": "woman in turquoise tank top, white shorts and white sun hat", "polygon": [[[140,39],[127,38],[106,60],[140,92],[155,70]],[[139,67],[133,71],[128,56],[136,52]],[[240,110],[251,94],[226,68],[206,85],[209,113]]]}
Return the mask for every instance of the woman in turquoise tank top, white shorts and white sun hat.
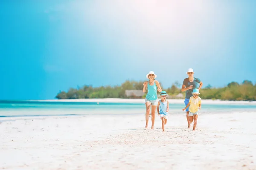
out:
{"label": "woman in turquoise tank top, white shorts and white sun hat", "polygon": [[143,93],[146,92],[148,89],[148,93],[145,99],[145,105],[146,105],[146,125],[145,128],[148,128],[148,119],[149,119],[149,113],[150,113],[150,105],[151,105],[151,129],[154,129],[154,119],[155,119],[155,112],[157,108],[157,91],[161,92],[162,89],[160,87],[160,84],[155,78],[157,78],[157,75],[154,74],[154,71],[149,71],[149,73],[146,75],[148,81],[143,83]]}

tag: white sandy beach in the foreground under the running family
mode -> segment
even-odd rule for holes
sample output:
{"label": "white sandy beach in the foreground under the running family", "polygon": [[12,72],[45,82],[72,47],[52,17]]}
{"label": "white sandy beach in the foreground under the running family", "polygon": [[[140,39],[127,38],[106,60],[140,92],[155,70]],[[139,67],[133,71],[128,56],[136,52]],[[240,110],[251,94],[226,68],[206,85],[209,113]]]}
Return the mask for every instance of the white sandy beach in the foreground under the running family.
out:
{"label": "white sandy beach in the foreground under the running family", "polygon": [[[201,114],[195,132],[170,114],[0,118],[0,169],[256,170],[256,114]],[[151,125],[151,123],[149,124]]]}

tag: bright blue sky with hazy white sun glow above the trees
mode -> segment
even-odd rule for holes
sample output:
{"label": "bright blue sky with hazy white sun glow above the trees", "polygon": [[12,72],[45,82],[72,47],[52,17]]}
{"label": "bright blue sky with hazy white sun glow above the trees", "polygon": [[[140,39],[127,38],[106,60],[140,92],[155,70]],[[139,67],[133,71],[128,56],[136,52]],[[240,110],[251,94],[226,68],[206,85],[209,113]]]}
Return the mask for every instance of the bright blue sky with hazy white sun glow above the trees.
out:
{"label": "bright blue sky with hazy white sun glow above the trees", "polygon": [[213,87],[256,82],[256,1],[0,1],[0,99],[53,99],[188,68]]}

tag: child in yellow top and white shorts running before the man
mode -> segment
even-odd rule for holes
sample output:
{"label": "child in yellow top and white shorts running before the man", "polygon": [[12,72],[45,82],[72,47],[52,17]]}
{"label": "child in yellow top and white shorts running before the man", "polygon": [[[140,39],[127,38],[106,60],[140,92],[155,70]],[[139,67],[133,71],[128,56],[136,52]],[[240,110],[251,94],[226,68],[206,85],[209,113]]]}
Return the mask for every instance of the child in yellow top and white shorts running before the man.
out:
{"label": "child in yellow top and white shorts running before the man", "polygon": [[[192,92],[193,96],[189,98],[189,103],[186,105],[186,108],[189,107],[189,122],[192,123],[194,119],[193,131],[195,131],[195,127],[198,119],[198,108],[201,109],[201,101],[202,99],[198,96],[199,90],[195,88]],[[182,110],[185,111],[186,108]]]}

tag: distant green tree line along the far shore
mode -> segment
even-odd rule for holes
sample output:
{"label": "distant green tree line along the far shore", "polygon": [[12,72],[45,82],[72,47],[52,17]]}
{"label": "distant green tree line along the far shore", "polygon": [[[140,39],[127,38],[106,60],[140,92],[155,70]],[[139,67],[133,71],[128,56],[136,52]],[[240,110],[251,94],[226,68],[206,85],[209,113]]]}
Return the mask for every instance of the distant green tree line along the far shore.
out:
{"label": "distant green tree line along the far shore", "polygon": [[[161,85],[161,83],[160,83]],[[162,87],[162,86],[161,86]],[[181,92],[181,85],[178,82],[172,84],[171,87],[163,89],[169,95],[169,98],[177,98],[176,95],[182,93],[183,98],[185,92]],[[82,88],[70,88],[67,92],[60,91],[57,99],[93,99],[93,98],[128,98],[125,96],[125,90],[142,90],[143,82],[125,81],[118,86],[101,86],[92,87],[92,85],[84,85]],[[256,84],[249,80],[244,80],[241,84],[238,82],[230,82],[223,88],[212,88],[211,85],[203,86],[200,91],[202,99],[221,99],[221,100],[256,100]],[[146,95],[146,94],[145,94]],[[145,98],[145,95],[143,98]]]}

